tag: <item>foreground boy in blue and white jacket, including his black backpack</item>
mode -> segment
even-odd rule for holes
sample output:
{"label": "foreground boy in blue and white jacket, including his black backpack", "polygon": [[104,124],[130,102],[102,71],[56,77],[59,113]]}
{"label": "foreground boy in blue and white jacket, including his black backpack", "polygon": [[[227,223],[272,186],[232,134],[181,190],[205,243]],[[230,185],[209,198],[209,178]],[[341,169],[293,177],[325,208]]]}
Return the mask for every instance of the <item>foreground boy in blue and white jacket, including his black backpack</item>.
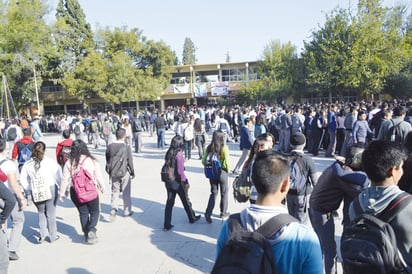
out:
{"label": "foreground boy in blue and white jacket, including his black backpack", "polygon": [[[224,222],[212,273],[323,273],[315,232],[288,215],[282,205],[290,183],[288,160],[259,152],[252,167],[252,179],[258,192],[256,204]],[[265,238],[256,234],[256,230],[266,234]],[[245,249],[251,247],[251,251],[243,252],[243,245]],[[259,263],[254,261],[256,253],[262,254],[257,258]],[[242,267],[249,268],[249,272],[242,272]]]}

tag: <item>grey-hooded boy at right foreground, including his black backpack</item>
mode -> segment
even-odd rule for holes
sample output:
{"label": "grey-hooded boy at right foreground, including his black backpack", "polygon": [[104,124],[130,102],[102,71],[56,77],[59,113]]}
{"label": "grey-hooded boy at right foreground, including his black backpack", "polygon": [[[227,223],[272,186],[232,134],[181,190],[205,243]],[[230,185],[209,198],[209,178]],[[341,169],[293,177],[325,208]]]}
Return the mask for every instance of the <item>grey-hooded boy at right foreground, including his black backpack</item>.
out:
{"label": "grey-hooded boy at right foreground, including his black backpack", "polygon": [[398,187],[405,158],[402,149],[388,141],[373,141],[363,152],[362,166],[371,185],[349,208],[352,225],[344,229],[341,239],[346,273],[406,273],[402,259],[411,273],[411,196]]}

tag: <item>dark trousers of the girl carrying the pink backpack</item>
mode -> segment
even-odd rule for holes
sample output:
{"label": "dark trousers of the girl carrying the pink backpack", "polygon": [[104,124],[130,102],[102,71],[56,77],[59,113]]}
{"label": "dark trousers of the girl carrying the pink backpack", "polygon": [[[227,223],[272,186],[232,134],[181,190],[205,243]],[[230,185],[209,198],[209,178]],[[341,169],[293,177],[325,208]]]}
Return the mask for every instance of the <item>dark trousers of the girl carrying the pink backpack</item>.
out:
{"label": "dark trousers of the girl carrying the pink backpack", "polygon": [[70,198],[72,199],[74,205],[77,207],[80,215],[80,224],[82,226],[82,231],[84,235],[87,235],[89,231],[96,232],[97,222],[100,216],[100,204],[99,196],[96,199],[91,200],[87,203],[80,203],[77,200],[74,188],[70,188]]}

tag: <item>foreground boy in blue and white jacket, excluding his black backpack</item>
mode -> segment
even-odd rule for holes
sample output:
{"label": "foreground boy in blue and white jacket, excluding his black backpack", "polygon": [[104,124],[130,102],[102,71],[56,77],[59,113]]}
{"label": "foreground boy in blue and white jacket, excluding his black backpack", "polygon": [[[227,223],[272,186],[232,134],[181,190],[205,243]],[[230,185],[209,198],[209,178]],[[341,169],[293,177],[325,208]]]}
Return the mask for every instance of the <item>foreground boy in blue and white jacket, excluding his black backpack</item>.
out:
{"label": "foreground boy in blue and white jacket, excluding his black backpack", "polygon": [[[257,154],[252,169],[258,198],[256,204],[240,212],[242,227],[248,231],[258,229],[273,216],[287,213],[282,200],[289,190],[287,159],[261,152]],[[225,221],[217,240],[217,256],[229,236],[228,221]],[[308,226],[292,222],[275,234],[270,243],[279,273],[323,273],[319,240]]]}

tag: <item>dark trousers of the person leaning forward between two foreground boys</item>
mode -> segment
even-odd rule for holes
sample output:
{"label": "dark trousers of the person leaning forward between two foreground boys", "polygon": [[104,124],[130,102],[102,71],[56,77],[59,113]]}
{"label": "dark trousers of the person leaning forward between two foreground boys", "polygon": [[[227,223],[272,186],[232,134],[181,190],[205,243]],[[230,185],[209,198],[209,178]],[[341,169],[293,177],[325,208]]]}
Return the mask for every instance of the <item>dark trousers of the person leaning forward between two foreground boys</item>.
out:
{"label": "dark trousers of the person leaning forward between two foreground boys", "polygon": [[309,208],[310,221],[312,227],[318,235],[320,246],[323,253],[326,274],[335,274],[336,272],[336,242],[335,242],[335,223],[332,213],[322,214],[312,208]]}

